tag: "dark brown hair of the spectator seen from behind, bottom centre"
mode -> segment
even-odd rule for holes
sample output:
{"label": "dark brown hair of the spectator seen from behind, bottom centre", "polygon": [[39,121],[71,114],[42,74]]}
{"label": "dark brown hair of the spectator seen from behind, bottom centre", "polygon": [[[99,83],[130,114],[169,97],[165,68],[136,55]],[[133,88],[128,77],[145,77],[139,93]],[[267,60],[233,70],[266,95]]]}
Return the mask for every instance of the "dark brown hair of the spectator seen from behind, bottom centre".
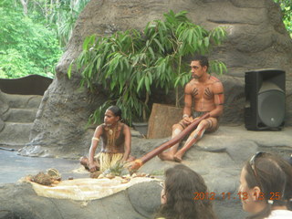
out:
{"label": "dark brown hair of the spectator seen from behind, bottom centre", "polygon": [[183,164],[165,172],[166,203],[155,215],[166,219],[214,219],[212,201],[194,200],[194,193],[208,193],[203,177]]}

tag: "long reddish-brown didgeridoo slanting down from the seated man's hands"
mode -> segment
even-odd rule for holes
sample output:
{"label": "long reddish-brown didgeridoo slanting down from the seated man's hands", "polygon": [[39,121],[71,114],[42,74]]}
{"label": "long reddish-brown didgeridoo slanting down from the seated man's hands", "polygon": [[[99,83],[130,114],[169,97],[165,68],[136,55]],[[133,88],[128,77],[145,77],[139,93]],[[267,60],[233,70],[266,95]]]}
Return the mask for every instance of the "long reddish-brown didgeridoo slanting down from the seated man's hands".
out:
{"label": "long reddish-brown didgeridoo slanting down from the seated man's hands", "polygon": [[162,143],[162,145],[158,146],[153,151],[150,151],[150,152],[146,153],[144,156],[142,156],[141,158],[136,159],[133,162],[130,162],[130,167],[128,168],[129,171],[137,171],[139,168],[141,168],[141,165],[143,165],[145,162],[148,162],[153,157],[155,157],[156,155],[160,154],[162,151],[165,151],[166,149],[169,149],[170,147],[172,147],[172,145],[176,144],[177,142],[182,141],[183,138],[189,132],[191,132],[192,130],[194,130],[199,125],[199,123],[202,120],[205,120],[205,119],[207,119],[209,117],[210,117],[210,113],[209,112],[206,112],[199,119],[193,120],[191,122],[191,124],[187,128],[185,128],[180,134],[178,134],[177,136],[175,136],[170,141],[166,141],[166,142]]}

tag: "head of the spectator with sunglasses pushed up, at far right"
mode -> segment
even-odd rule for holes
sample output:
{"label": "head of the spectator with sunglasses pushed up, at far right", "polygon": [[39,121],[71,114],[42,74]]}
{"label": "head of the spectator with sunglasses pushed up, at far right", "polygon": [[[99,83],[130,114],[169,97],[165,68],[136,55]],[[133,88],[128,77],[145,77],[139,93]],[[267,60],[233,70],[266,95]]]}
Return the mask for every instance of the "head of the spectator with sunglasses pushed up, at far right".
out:
{"label": "head of the spectator with sunglasses pushed up, at far right", "polygon": [[245,163],[240,176],[243,208],[252,214],[248,218],[265,218],[279,206],[288,207],[291,183],[292,168],[286,161],[257,152]]}

